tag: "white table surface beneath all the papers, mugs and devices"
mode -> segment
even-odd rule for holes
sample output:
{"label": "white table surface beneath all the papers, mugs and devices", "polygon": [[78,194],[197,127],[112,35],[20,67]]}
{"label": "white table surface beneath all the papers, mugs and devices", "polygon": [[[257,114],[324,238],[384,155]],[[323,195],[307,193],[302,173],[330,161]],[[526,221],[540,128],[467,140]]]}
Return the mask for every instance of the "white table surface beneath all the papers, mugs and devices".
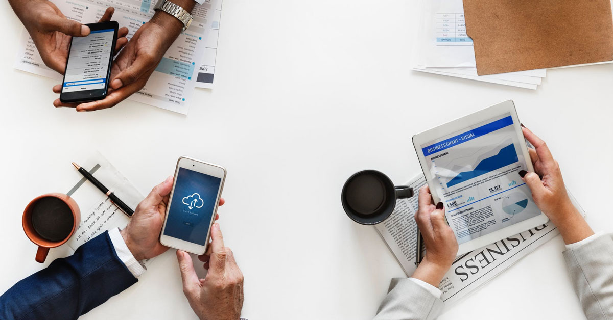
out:
{"label": "white table surface beneath all the papers, mugs and devices", "polygon": [[[66,192],[70,162],[100,151],[147,194],[186,154],[228,170],[219,223],[245,275],[243,316],[371,319],[403,272],[346,217],[346,178],[372,168],[402,184],[421,172],[414,133],[504,99],[547,141],[590,225],[613,231],[613,64],[549,70],[536,91],[430,75],[410,70],[414,0],[226,0],[215,89],[197,89],[188,116],[129,101],[77,113],[53,108],[55,81],[13,69],[22,27],[0,6],[0,292],[72,253],[38,264],[21,228],[30,199]],[[558,236],[441,319],[584,318],[561,251]],[[174,250],[82,319],[120,316],[196,318]]]}

